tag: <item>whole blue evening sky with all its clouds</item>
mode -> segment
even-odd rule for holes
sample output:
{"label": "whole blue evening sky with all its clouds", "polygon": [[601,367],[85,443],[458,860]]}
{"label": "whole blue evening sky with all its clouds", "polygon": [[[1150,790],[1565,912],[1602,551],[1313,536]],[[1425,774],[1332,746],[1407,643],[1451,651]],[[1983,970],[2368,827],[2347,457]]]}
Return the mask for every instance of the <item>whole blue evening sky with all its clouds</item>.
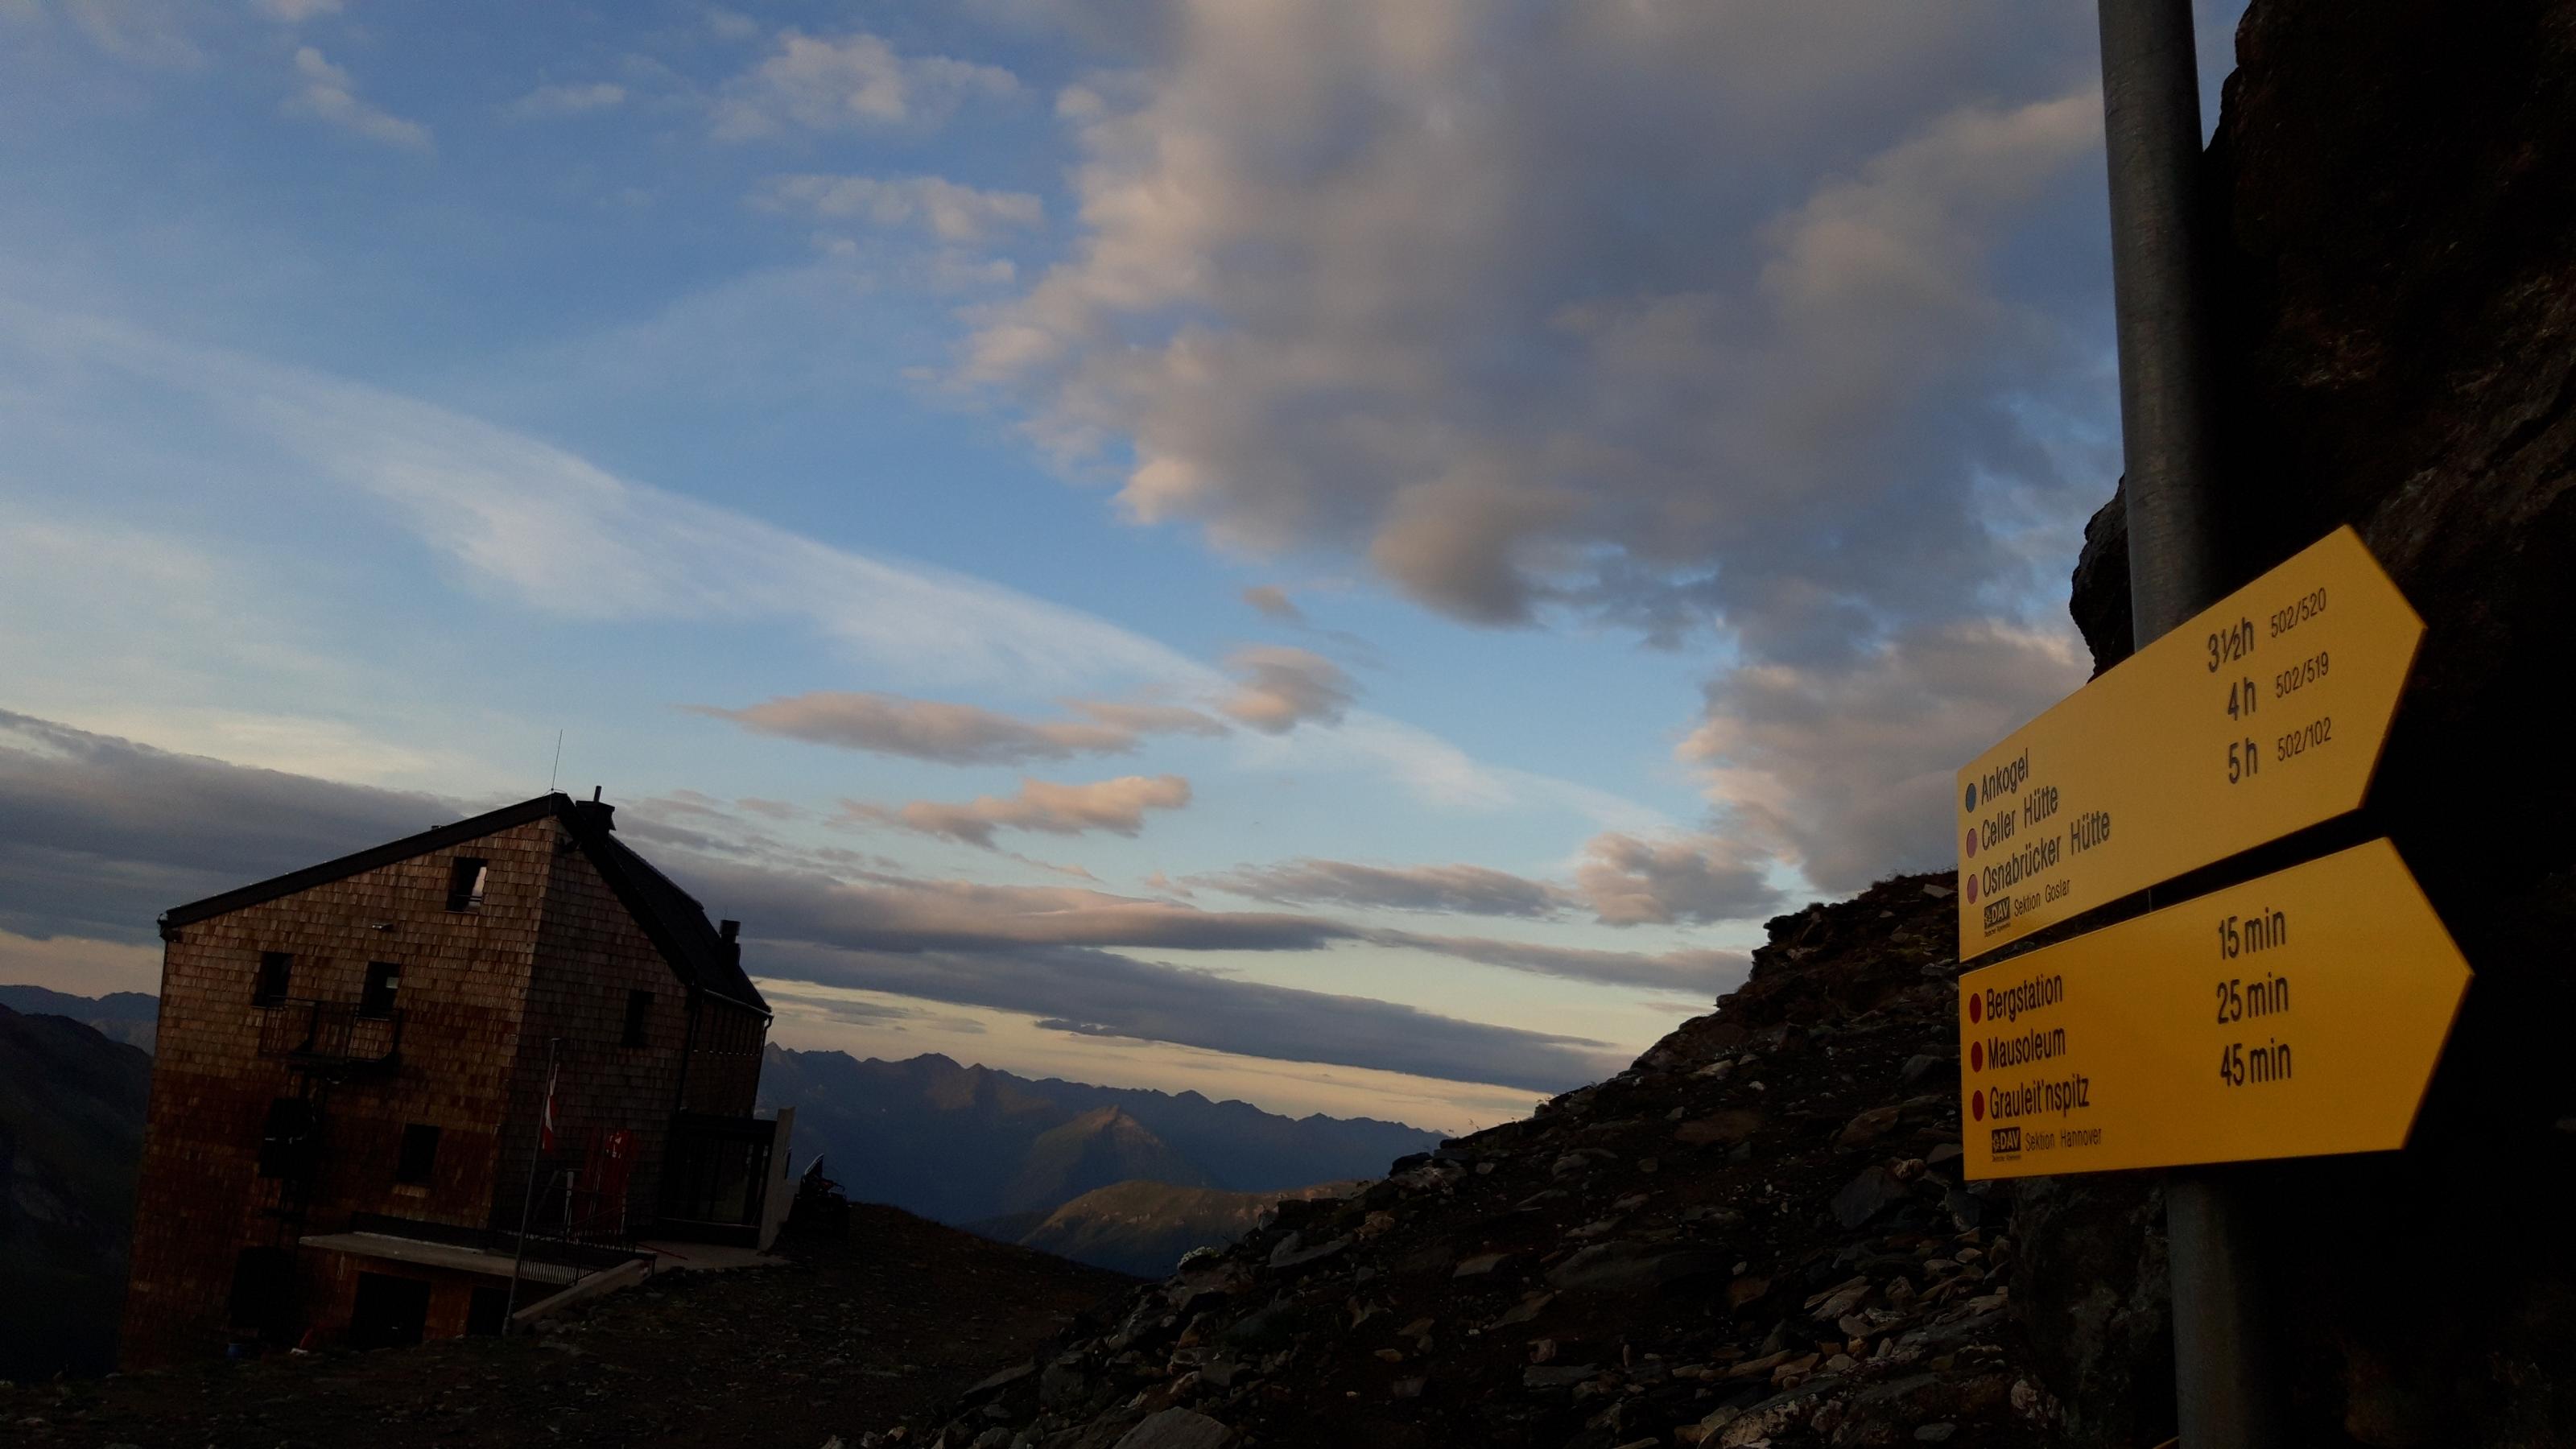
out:
{"label": "whole blue evening sky with all its clouds", "polygon": [[775,1042],[1517,1116],[2081,683],[2097,64],[2038,0],[0,0],[0,980],[598,786]]}

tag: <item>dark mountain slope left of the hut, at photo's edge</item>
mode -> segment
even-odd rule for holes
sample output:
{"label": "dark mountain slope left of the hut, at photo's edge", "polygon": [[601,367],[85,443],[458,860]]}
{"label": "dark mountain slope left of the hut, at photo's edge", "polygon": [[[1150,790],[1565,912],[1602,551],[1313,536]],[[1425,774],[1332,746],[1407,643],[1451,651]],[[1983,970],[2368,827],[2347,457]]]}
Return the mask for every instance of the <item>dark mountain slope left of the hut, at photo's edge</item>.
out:
{"label": "dark mountain slope left of the hut, at photo's edge", "polygon": [[113,1366],[149,1085],[139,1049],[0,1006],[0,1379]]}

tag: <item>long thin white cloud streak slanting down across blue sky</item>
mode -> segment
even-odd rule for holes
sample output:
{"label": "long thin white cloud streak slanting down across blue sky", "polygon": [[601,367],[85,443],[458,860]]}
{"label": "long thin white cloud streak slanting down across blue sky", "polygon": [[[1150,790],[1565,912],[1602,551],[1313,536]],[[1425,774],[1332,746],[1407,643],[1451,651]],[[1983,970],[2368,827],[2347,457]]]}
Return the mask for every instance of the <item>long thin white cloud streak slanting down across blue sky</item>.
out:
{"label": "long thin white cloud streak slanting down across blue sky", "polygon": [[[1133,735],[1229,730],[1182,701],[1213,704],[1239,683],[1095,614],[933,565],[829,547],[371,387],[10,299],[0,299],[0,320],[8,322],[0,345],[23,353],[28,366],[173,387],[204,400],[227,425],[283,449],[286,456],[258,456],[265,477],[283,480],[270,505],[296,508],[309,498],[299,490],[317,485],[379,500],[464,588],[544,616],[580,624],[786,621],[814,629],[840,657],[904,683],[1079,691],[1084,699],[1072,704],[1079,719],[1064,724]],[[88,366],[64,369],[62,358]],[[1105,699],[1108,691],[1126,699]],[[853,740],[853,748],[871,745]],[[1252,732],[1239,735],[1236,748],[1267,768],[1378,773],[1443,810],[1553,804],[1625,830],[1669,825],[1636,802],[1481,763],[1440,735],[1360,709],[1334,730]],[[999,763],[1020,758],[1061,755],[1005,750]]]}

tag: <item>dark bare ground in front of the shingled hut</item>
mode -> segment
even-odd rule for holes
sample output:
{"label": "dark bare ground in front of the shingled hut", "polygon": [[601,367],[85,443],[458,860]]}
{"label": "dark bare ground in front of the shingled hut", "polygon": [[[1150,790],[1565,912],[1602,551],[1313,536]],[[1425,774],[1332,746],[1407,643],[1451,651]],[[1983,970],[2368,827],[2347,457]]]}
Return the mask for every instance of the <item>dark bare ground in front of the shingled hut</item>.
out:
{"label": "dark bare ground in front of the shingled hut", "polygon": [[791,1250],[786,1269],[662,1276],[544,1336],[21,1385],[0,1390],[0,1444],[855,1444],[1131,1284],[886,1207],[853,1207],[848,1243]]}

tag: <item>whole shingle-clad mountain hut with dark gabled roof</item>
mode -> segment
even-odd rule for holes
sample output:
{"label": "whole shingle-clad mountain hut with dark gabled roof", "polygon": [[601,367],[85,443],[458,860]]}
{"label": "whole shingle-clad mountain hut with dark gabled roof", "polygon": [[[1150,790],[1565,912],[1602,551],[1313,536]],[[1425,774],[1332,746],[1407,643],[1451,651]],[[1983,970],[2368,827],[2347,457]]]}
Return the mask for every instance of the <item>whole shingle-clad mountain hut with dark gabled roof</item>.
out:
{"label": "whole shingle-clad mountain hut with dark gabled roof", "polygon": [[605,804],[183,905],[162,941],[129,1366],[489,1330],[641,1235],[760,1235],[768,1006]]}

